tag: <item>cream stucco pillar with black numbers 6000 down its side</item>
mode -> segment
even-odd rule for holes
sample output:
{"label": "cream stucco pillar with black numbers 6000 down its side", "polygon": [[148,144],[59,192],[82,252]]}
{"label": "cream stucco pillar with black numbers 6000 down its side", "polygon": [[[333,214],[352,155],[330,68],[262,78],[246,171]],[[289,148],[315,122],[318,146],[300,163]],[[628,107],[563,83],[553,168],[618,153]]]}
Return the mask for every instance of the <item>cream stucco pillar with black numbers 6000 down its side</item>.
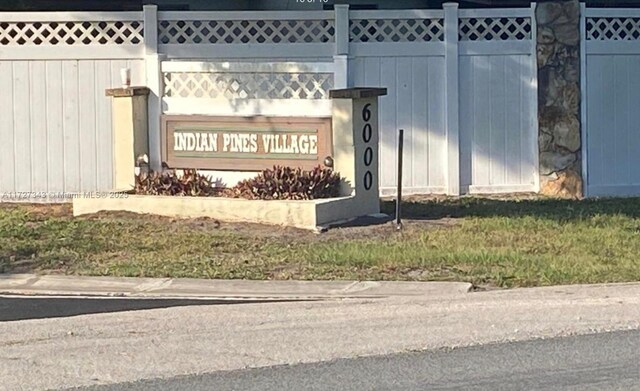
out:
{"label": "cream stucco pillar with black numbers 6000 down its side", "polygon": [[386,94],[386,88],[330,91],[334,169],[345,178],[342,195],[355,196],[360,215],[380,212],[378,99]]}

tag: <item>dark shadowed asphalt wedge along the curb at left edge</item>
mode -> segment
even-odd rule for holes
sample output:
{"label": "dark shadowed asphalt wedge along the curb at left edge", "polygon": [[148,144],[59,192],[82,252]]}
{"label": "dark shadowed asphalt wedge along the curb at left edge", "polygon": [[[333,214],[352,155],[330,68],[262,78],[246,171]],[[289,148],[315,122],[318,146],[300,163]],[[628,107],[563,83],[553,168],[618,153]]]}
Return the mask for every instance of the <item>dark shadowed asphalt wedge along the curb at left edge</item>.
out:
{"label": "dark shadowed asphalt wedge along the curb at left edge", "polygon": [[[0,322],[61,318],[197,305],[260,303],[259,300],[178,300],[140,298],[0,297]],[[273,302],[273,301],[271,301]]]}

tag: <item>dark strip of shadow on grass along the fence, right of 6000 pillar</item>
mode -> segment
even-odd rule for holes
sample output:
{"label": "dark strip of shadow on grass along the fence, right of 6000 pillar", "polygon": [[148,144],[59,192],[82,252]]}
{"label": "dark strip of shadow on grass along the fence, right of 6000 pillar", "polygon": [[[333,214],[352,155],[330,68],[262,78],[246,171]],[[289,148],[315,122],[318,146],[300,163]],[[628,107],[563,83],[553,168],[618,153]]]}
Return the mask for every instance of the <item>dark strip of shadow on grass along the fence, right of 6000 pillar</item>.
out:
{"label": "dark strip of shadow on grass along the fence, right of 6000 pillar", "polygon": [[[395,217],[395,201],[382,201],[382,213]],[[596,215],[623,215],[640,218],[640,198],[603,198],[588,200],[491,199],[459,197],[403,201],[402,217],[436,220],[446,217],[525,217],[570,221]]]}

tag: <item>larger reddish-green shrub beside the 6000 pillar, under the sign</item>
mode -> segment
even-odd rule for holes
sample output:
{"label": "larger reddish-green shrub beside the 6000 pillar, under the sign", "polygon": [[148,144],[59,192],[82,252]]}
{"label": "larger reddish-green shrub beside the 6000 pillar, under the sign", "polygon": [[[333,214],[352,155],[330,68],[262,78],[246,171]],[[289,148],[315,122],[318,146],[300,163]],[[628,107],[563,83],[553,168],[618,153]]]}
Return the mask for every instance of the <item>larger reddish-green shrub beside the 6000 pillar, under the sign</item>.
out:
{"label": "larger reddish-green shrub beside the 6000 pillar, under the sign", "polygon": [[250,200],[313,200],[340,195],[339,174],[330,169],[275,166],[263,170],[257,177],[241,181],[225,190],[224,195]]}

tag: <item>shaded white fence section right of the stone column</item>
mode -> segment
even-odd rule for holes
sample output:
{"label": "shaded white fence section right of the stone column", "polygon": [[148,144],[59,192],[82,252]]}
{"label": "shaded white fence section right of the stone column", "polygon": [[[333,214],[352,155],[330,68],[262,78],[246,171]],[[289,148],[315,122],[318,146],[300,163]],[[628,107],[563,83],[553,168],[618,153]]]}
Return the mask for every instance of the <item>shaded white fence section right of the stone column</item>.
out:
{"label": "shaded white fence section right of the stone column", "polygon": [[586,9],[586,195],[640,194],[640,10]]}

